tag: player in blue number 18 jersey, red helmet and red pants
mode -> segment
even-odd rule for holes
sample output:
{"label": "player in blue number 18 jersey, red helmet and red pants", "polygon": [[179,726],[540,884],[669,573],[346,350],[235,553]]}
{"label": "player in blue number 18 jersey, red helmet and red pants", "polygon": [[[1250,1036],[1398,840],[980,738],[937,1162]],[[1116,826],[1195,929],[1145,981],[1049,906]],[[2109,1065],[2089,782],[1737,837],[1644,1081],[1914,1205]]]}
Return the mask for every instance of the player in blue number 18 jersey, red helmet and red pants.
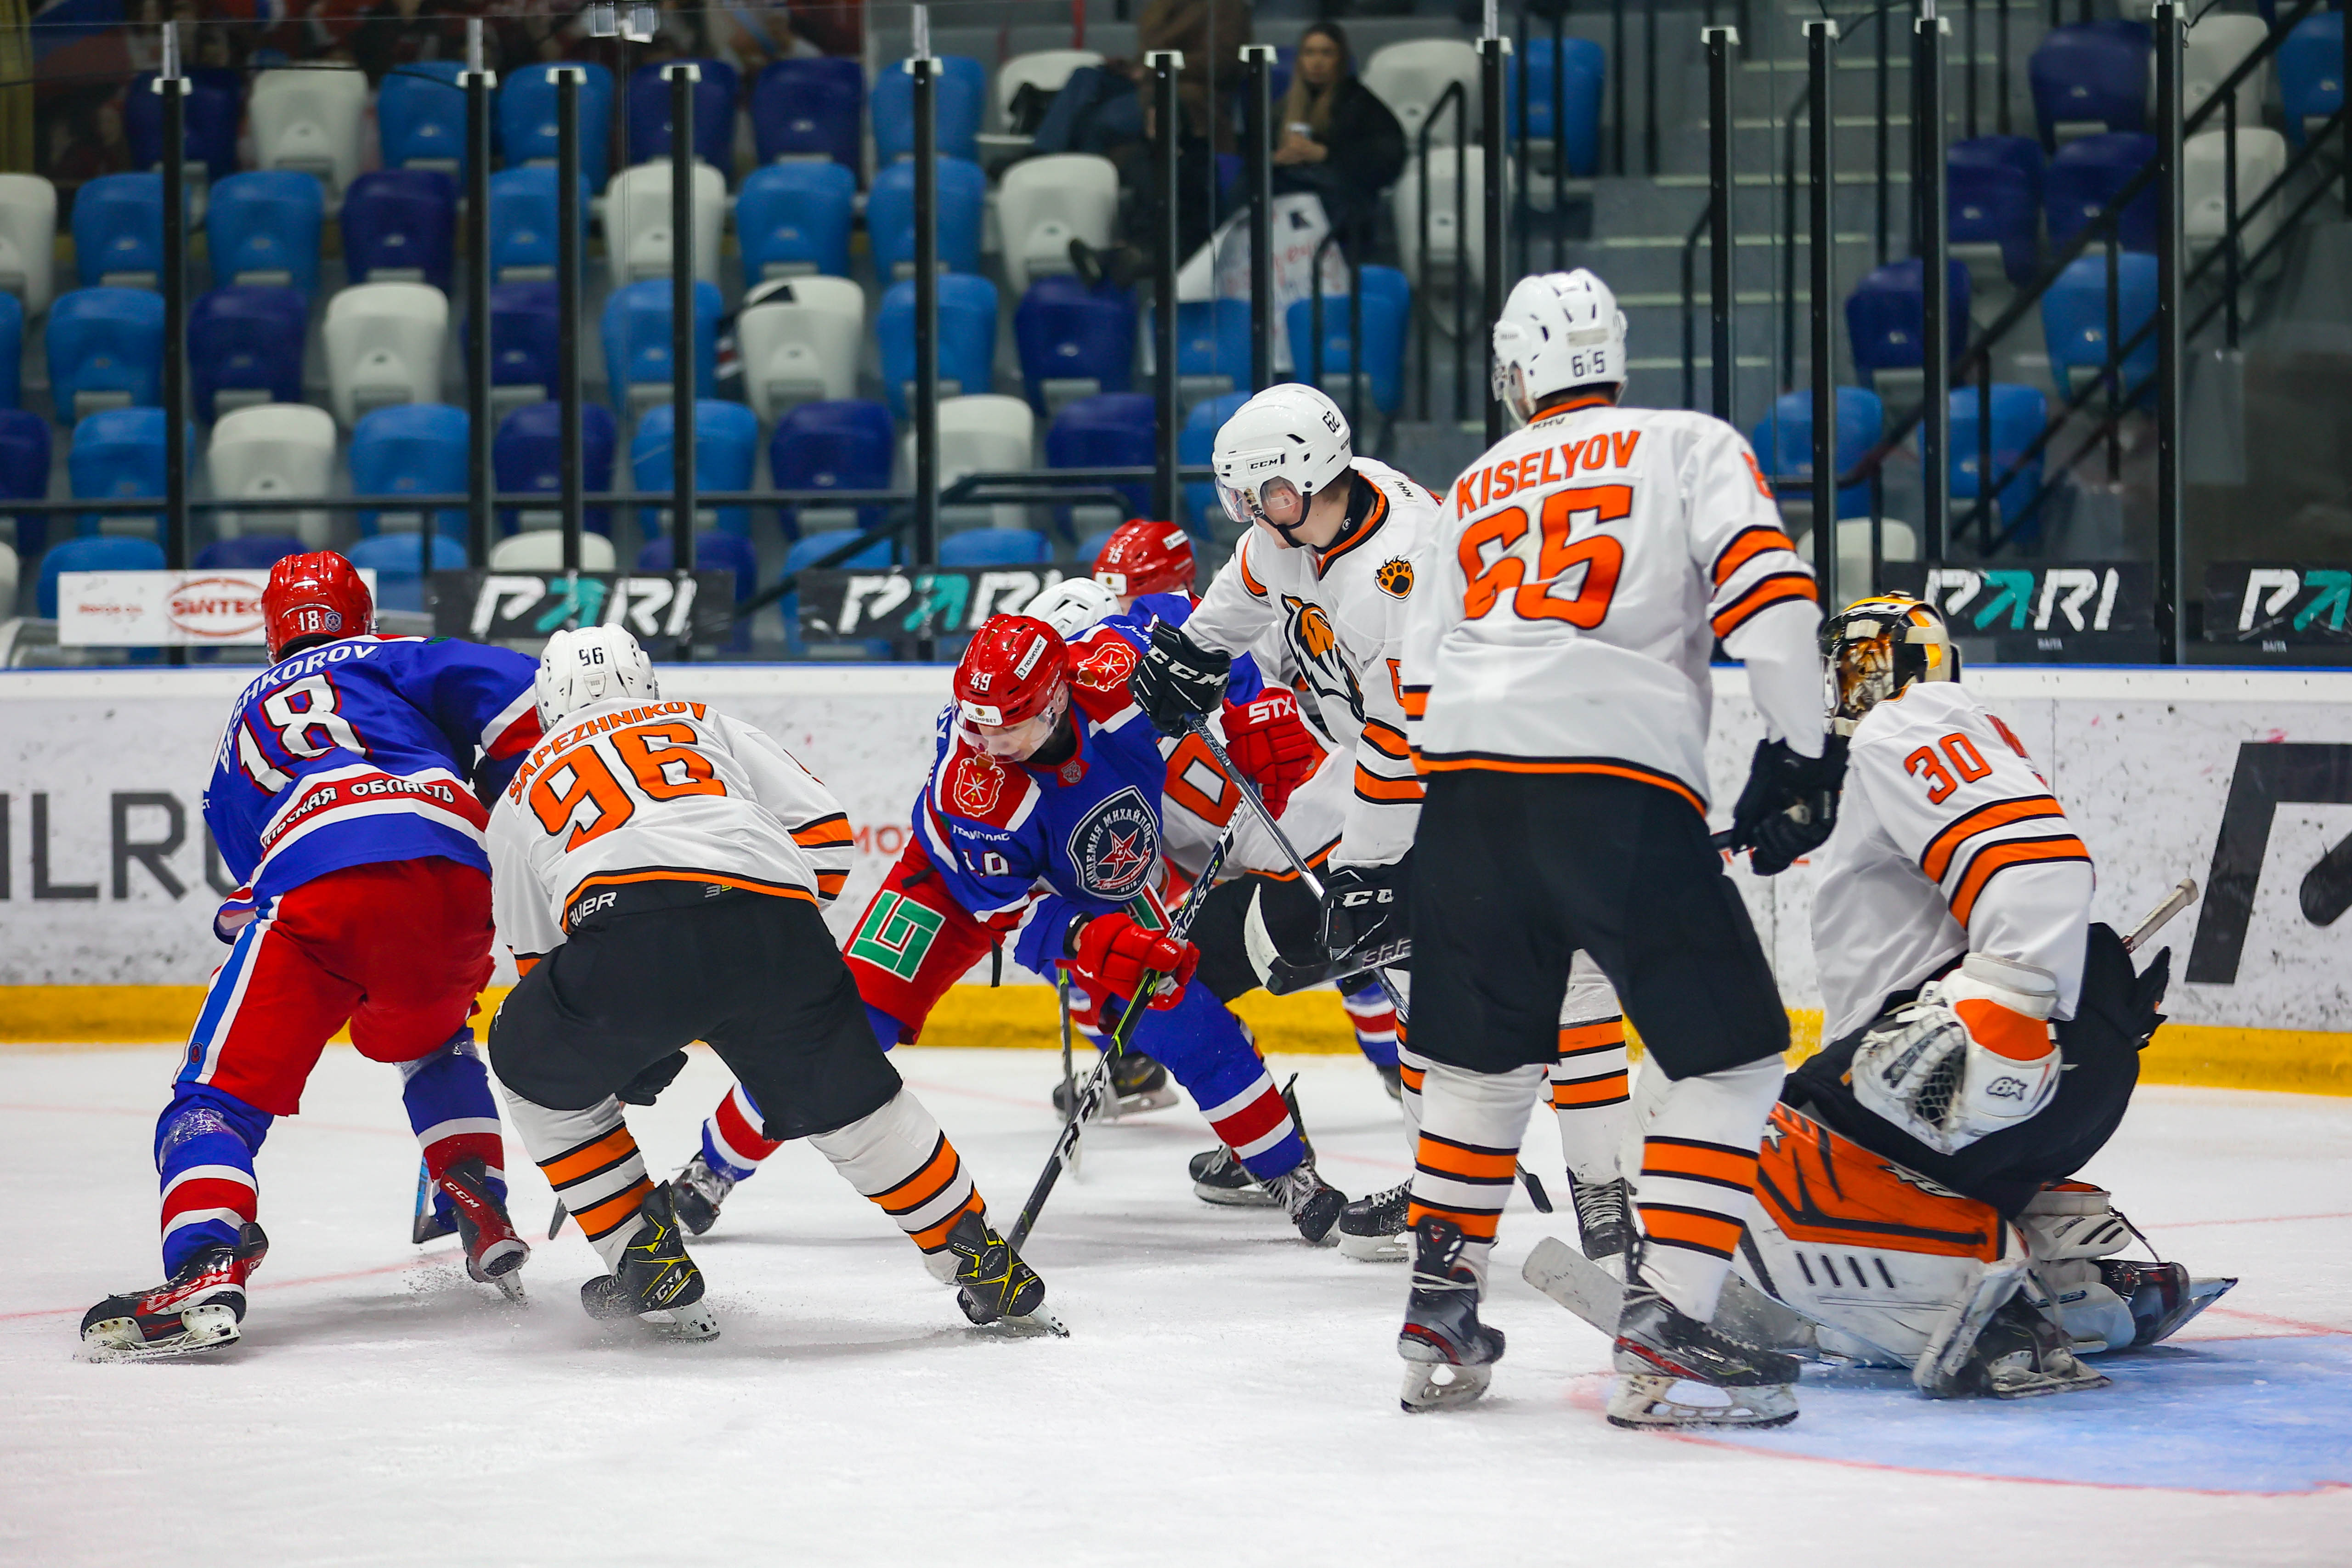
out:
{"label": "player in blue number 18 jersey, red helmet and red pants", "polygon": [[466,1269],[520,1293],[499,1105],[468,1018],[492,971],[482,797],[539,738],[536,665],[466,642],[374,635],[374,602],[334,552],[289,555],[261,595],[270,668],[238,698],[205,790],[242,886],[214,917],[212,976],[155,1124],[162,1269],[82,1319],[92,1359],[219,1349],[268,1248],[254,1152],[301,1110],[348,1023],[400,1067],[409,1126]]}

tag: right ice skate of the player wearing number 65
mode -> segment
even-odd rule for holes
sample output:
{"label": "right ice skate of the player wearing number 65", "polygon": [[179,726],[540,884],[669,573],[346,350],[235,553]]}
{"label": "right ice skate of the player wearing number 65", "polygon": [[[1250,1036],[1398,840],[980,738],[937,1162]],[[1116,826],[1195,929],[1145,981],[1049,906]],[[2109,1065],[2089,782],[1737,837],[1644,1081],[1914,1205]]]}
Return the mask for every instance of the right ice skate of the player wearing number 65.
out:
{"label": "right ice skate of the player wearing number 65", "polygon": [[1611,1427],[1785,1427],[1797,1420],[1795,1356],[1740,1345],[1677,1312],[1639,1274],[1618,1316],[1616,1371]]}

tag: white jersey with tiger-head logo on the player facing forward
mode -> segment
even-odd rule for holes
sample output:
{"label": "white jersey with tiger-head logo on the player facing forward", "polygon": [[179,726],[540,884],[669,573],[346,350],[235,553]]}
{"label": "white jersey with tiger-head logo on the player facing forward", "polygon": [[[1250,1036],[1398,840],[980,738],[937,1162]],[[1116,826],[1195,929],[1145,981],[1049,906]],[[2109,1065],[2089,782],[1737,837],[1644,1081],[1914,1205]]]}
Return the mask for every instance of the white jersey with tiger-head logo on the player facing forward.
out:
{"label": "white jersey with tiger-head logo on the player facing forward", "polygon": [[[1324,766],[1338,766],[1343,783],[1301,790],[1310,799],[1345,799],[1331,860],[1385,865],[1411,846],[1421,823],[1397,661],[1437,498],[1385,463],[1352,465],[1369,501],[1350,508],[1329,548],[1287,550],[1265,529],[1247,529],[1183,630],[1228,654],[1251,651],[1268,630],[1279,635],[1289,670],[1301,677],[1301,708],[1338,748],[1338,762]],[[1298,849],[1312,856],[1322,844]]]}

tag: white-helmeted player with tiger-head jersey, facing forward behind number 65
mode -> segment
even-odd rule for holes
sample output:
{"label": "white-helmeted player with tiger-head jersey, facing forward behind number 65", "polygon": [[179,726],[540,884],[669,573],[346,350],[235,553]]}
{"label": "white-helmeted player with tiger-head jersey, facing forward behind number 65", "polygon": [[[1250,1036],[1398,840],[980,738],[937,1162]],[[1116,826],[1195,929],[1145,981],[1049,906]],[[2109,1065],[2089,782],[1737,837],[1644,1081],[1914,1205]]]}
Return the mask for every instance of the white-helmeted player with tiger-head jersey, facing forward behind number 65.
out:
{"label": "white-helmeted player with tiger-head jersey, facing forward behind number 65", "polygon": [[[1324,907],[1376,910],[1355,919],[1345,947],[1404,936],[1399,896],[1409,875],[1421,778],[1404,738],[1406,607],[1437,524],[1437,498],[1374,458],[1355,456],[1348,416],[1310,386],[1272,386],[1216,433],[1211,449],[1225,515],[1244,531],[1232,557],[1181,628],[1152,630],[1134,675],[1136,701],[1164,733],[1211,715],[1237,654],[1279,639],[1298,672],[1305,708],[1334,743],[1322,766],[1289,799],[1282,827],[1322,867]],[[1237,839],[1247,870],[1289,875],[1289,858],[1247,823]],[[1296,940],[1270,919],[1277,940]],[[1383,976],[1404,987],[1402,969]],[[1613,1147],[1625,1105],[1625,1027],[1599,971],[1559,992],[1552,1056],[1562,1145],[1590,1255],[1623,1251],[1625,1201]],[[1402,1001],[1404,997],[1399,997]],[[1555,997],[1555,1006],[1559,1006]],[[1425,1063],[1397,1030],[1397,1079],[1406,1135],[1421,1126]],[[1197,1157],[1195,1185],[1232,1171],[1221,1150]],[[1357,1199],[1341,1218],[1341,1251],[1381,1260],[1404,1255],[1406,1187]]]}

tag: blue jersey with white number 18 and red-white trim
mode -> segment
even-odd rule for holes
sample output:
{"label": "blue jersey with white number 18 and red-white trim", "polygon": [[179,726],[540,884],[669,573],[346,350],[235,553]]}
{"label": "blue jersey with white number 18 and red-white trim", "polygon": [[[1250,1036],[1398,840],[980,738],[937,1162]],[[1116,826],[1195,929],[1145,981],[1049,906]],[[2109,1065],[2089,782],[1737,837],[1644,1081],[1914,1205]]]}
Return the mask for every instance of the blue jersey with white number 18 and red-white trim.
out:
{"label": "blue jersey with white number 18 and red-white trim", "polygon": [[536,672],[442,637],[343,637],[270,665],[238,696],[205,788],[242,884],[223,914],[346,865],[445,856],[489,875],[475,762],[496,792],[539,741]]}

